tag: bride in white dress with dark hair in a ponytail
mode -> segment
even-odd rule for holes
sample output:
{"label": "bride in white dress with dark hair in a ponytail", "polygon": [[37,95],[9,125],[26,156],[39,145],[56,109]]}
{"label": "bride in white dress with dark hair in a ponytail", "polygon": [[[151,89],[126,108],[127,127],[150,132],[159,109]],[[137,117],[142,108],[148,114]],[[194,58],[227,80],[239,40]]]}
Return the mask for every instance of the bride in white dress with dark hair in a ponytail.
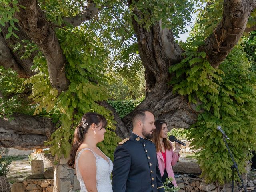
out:
{"label": "bride in white dress with dark hair in a ponytail", "polygon": [[113,192],[112,161],[96,146],[104,140],[106,125],[104,116],[88,112],[75,129],[68,165],[76,169],[80,192]]}

